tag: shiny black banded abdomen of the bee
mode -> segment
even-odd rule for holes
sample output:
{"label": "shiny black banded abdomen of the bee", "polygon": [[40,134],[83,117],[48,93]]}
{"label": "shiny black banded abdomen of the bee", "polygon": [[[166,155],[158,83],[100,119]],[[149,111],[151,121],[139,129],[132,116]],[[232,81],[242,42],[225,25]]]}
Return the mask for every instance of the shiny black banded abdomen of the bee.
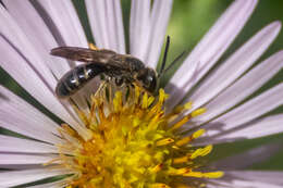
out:
{"label": "shiny black banded abdomen of the bee", "polygon": [[104,72],[99,64],[84,64],[69,71],[58,83],[56,93],[59,98],[70,97],[90,79]]}

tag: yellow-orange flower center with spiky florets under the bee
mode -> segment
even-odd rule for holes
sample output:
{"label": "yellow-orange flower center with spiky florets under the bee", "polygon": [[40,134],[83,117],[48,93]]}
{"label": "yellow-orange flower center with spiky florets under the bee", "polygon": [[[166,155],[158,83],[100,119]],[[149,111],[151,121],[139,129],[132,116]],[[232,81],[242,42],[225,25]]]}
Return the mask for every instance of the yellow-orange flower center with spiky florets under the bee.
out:
{"label": "yellow-orange flower center with spiky florets under the bee", "polygon": [[[196,161],[210,153],[212,146],[194,148],[189,142],[205,130],[180,134],[182,126],[205,109],[181,118],[180,114],[192,105],[187,103],[164,114],[167,98],[162,89],[155,98],[139,87],[113,96],[106,88],[91,97],[88,113],[76,109],[91,138],[84,140],[69,125],[60,129],[65,143],[58,146],[58,160],[74,172],[66,187],[181,188],[184,177],[221,177],[222,172],[198,171]],[[200,186],[198,181],[190,184]]]}

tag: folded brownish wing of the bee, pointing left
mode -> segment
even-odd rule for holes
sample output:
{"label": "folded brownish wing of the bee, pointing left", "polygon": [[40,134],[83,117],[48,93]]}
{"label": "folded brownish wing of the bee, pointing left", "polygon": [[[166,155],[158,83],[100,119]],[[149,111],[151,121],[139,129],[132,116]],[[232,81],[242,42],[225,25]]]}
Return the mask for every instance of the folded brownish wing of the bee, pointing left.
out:
{"label": "folded brownish wing of the bee, pointing left", "polygon": [[107,63],[116,53],[110,50],[91,50],[78,47],[58,47],[51,50],[50,54],[81,62]]}

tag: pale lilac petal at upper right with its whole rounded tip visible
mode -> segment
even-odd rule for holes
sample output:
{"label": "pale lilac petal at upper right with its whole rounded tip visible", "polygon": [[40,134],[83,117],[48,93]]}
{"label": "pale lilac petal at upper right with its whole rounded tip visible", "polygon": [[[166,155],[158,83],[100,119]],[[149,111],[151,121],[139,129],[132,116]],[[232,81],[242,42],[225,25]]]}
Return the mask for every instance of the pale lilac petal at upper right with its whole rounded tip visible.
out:
{"label": "pale lilac petal at upper right with its whole rounded tip visible", "polygon": [[213,99],[245,73],[275,39],[280,28],[279,22],[268,25],[223,62],[218,70],[209,74],[209,77],[198,85],[189,97],[189,100],[194,101],[194,109]]}

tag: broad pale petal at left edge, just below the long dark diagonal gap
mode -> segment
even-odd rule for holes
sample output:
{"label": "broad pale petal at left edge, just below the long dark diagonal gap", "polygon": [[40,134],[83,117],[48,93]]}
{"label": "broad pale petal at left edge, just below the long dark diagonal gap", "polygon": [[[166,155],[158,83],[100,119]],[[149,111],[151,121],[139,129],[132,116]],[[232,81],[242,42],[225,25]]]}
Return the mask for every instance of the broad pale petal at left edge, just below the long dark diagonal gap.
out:
{"label": "broad pale petal at left edge, just below the long dark diagonal gap", "polygon": [[30,104],[0,87],[0,126],[32,138],[57,143],[58,124]]}

